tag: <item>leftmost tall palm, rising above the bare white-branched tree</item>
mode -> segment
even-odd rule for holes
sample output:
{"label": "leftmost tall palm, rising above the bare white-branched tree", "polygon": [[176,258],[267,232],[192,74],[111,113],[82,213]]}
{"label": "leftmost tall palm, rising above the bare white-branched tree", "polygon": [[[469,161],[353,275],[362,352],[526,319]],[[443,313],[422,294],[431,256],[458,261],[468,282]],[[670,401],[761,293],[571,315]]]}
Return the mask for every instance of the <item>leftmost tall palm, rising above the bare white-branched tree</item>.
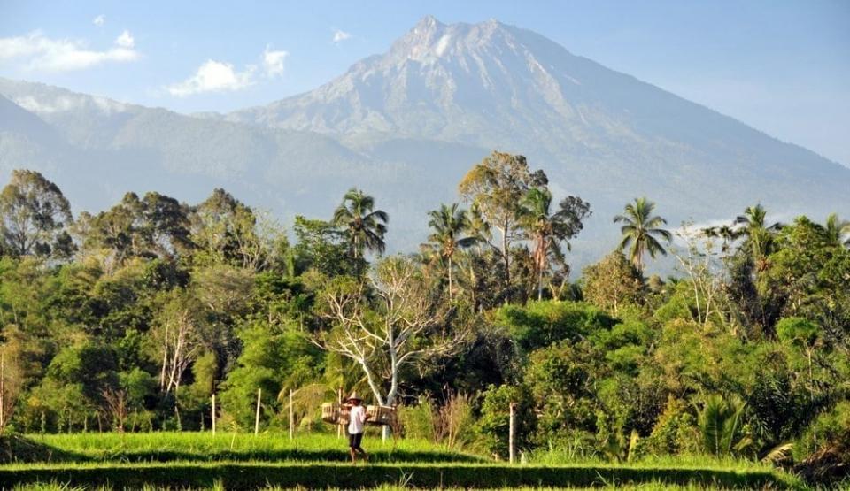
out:
{"label": "leftmost tall palm, rising above the bare white-branched tree", "polygon": [[348,231],[352,257],[360,259],[364,249],[383,254],[386,249],[383,235],[387,233],[389,221],[385,211],[375,210],[375,198],[351,188],[334,211],[333,223]]}

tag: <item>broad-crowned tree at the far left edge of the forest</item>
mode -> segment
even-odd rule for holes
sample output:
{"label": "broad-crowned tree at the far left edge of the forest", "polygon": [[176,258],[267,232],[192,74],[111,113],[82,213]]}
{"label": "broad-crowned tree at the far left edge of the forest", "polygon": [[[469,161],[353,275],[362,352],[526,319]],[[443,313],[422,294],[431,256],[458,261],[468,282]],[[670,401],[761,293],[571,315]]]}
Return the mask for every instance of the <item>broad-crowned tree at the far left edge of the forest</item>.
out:
{"label": "broad-crowned tree at the far left edge of the forest", "polygon": [[3,249],[14,256],[48,256],[69,245],[63,236],[72,222],[71,205],[56,184],[35,171],[12,171],[0,192]]}

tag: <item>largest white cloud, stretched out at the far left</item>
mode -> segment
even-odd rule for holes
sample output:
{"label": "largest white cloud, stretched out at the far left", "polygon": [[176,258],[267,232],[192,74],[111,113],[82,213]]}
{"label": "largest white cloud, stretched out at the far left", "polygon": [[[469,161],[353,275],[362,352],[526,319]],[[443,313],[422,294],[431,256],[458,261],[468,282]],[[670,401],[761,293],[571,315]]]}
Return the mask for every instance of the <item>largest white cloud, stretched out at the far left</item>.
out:
{"label": "largest white cloud, stretched out at the far left", "polygon": [[[126,36],[125,36],[126,35]],[[86,42],[51,39],[35,31],[28,35],[0,38],[0,63],[25,60],[24,68],[34,71],[65,72],[81,70],[109,62],[128,62],[139,58],[133,49],[133,36],[125,31],[108,50],[89,50]]]}

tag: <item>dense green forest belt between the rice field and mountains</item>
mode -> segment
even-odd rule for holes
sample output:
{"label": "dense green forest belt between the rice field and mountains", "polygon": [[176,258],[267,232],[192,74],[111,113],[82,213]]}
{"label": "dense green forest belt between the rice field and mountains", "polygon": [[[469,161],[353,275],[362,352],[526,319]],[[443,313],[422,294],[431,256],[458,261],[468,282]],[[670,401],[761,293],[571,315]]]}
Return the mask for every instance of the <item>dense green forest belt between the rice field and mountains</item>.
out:
{"label": "dense green forest belt between the rice field and mountains", "polygon": [[[494,152],[435,203],[421,249],[386,254],[380,197],[272,217],[216,189],[128,193],[73,216],[40,173],[0,194],[0,430],[321,431],[337,387],[399,406],[404,432],[525,452],[850,463],[850,224],[668,225],[636,198],[622,242],[571,271],[591,204]],[[624,202],[629,199],[624,197]],[[668,256],[676,271],[647,277]],[[845,471],[846,472],[846,471]]]}

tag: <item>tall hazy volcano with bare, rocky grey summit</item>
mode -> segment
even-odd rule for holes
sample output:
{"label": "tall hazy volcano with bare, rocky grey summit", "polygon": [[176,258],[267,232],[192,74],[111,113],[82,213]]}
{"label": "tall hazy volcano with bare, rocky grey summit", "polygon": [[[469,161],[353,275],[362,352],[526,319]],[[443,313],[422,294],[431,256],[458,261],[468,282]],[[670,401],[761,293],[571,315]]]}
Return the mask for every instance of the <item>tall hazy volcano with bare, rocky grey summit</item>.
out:
{"label": "tall hazy volcano with bare, rocky grey summit", "polygon": [[846,208],[850,185],[846,167],[495,20],[422,19],[321,88],[228,120],[363,150],[402,138],[522,152],[606,212],[645,194],[675,219],[757,201],[823,213]]}

